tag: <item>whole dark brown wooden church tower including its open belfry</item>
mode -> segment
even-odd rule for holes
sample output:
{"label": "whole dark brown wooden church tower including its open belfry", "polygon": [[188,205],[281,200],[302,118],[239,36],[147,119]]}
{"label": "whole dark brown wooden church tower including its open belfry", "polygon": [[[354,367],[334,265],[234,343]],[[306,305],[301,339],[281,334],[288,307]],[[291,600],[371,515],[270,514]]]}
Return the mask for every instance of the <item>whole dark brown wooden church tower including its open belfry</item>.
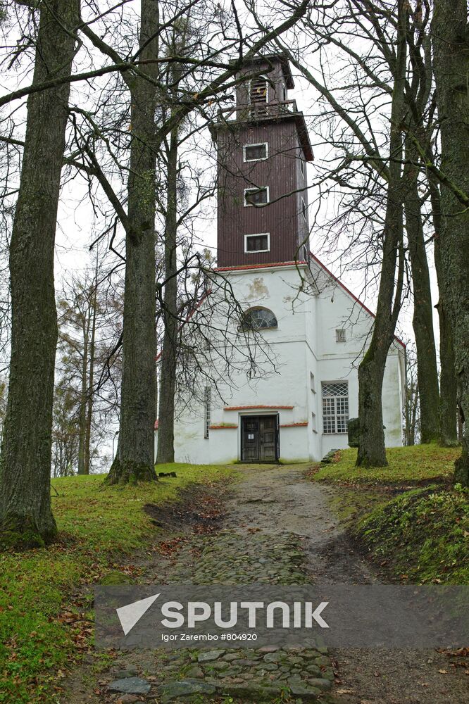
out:
{"label": "whole dark brown wooden church tower including its open belfry", "polygon": [[213,125],[218,155],[218,266],[308,258],[306,161],[313,151],[282,55],[259,56],[238,78],[236,106]]}

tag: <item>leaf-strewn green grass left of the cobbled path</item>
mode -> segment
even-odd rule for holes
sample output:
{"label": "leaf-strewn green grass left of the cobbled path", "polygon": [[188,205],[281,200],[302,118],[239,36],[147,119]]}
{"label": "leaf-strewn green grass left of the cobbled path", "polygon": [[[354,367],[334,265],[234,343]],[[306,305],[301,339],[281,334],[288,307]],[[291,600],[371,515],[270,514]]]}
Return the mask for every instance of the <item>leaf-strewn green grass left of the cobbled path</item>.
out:
{"label": "leaf-strewn green grass left of the cobbled path", "polygon": [[187,484],[216,482],[236,472],[232,466],[205,465],[159,465],[158,470],[175,470],[177,479],[106,489],[104,475],[54,479],[59,541],[0,554],[0,702],[54,701],[57,672],[60,678],[61,666],[87,648],[92,632],[91,623],[77,620],[87,616],[87,604],[77,605],[73,594],[106,572],[125,571],[123,554],[142,549],[154,536],[145,503],[175,499]]}

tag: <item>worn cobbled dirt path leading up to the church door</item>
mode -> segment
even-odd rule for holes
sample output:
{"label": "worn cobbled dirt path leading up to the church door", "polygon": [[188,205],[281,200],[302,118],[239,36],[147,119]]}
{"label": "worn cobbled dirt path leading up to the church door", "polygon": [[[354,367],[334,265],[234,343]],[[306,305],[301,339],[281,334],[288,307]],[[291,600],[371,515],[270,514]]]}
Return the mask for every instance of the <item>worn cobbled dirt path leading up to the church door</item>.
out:
{"label": "worn cobbled dirt path leading up to the church door", "polygon": [[[239,481],[218,490],[216,496],[193,497],[192,505],[188,498],[189,508],[182,513],[155,507],[151,515],[157,524],[168,530],[183,524],[185,536],[180,542],[176,539],[175,551],[166,550],[165,543],[161,549],[161,543],[142,556],[144,582],[379,581],[368,560],[354,550],[332,511],[338,490],[309,481],[304,476],[305,468],[239,467]],[[221,509],[221,516],[216,507]],[[434,650],[349,648],[327,655],[318,650],[292,653],[276,648],[272,652],[214,650],[208,658],[204,650],[139,651],[118,653],[111,667],[104,665],[99,672],[96,659],[89,658],[65,681],[65,695],[58,702],[241,704],[295,699],[343,704],[469,703],[469,678],[461,667],[449,667],[449,658]],[[127,679],[131,683],[135,677],[149,690],[146,694],[132,692],[131,686],[127,693],[113,692],[113,682]],[[285,699],[286,691],[291,699]]]}

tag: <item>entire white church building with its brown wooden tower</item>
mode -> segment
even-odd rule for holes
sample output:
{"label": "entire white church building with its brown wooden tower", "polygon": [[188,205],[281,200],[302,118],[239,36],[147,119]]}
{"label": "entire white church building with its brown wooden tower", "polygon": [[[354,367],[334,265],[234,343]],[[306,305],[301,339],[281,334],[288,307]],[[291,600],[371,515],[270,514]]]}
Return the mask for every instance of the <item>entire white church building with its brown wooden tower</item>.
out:
{"label": "entire white church building with its brown wooden tower", "polygon": [[[197,382],[178,393],[176,462],[320,460],[348,446],[349,417],[358,415],[373,313],[310,251],[313,151],[288,98],[287,59],[259,56],[244,75],[235,106],[212,128],[217,268],[194,312],[195,321],[210,318],[211,344]],[[404,372],[405,346],[395,338],[382,396],[387,446],[402,444]]]}

